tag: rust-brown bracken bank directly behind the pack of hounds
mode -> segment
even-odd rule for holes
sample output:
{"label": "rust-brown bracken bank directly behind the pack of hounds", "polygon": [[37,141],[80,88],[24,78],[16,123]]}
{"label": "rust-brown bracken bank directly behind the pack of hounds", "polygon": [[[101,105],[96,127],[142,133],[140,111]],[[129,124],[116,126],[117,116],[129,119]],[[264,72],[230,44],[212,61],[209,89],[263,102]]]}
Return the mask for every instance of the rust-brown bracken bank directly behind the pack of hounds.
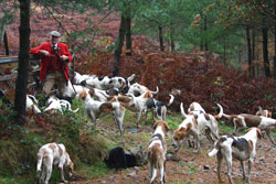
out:
{"label": "rust-brown bracken bank directly behind the pack of hounds", "polygon": [[[192,101],[202,104],[208,111],[215,102],[224,107],[226,113],[255,113],[258,106],[273,110],[276,101],[276,84],[273,78],[253,78],[246,73],[225,67],[215,54],[193,52],[157,52],[146,37],[135,37],[132,55],[120,59],[119,75],[136,74],[135,80],[155,90],[159,87],[158,99],[169,100],[169,91],[180,89],[173,109],[178,110],[181,101],[185,107]],[[98,76],[109,75],[113,54],[97,51],[96,54],[79,53],[77,71]],[[208,58],[206,58],[208,57]]]}

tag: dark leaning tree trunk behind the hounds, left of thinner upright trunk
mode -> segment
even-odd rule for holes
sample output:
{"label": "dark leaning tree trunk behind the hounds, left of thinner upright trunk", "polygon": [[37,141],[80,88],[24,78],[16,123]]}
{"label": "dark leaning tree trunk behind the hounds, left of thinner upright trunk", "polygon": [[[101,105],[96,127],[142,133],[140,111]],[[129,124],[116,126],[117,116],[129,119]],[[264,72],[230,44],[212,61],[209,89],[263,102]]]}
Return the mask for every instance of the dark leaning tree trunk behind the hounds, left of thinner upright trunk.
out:
{"label": "dark leaning tree trunk behind the hounds, left of thinner upright trunk", "polygon": [[124,15],[120,17],[120,28],[119,28],[119,36],[115,43],[115,52],[114,52],[114,62],[113,62],[113,76],[118,76],[119,74],[119,63],[120,63],[120,54],[121,48],[124,46],[125,35],[126,35],[126,18]]}

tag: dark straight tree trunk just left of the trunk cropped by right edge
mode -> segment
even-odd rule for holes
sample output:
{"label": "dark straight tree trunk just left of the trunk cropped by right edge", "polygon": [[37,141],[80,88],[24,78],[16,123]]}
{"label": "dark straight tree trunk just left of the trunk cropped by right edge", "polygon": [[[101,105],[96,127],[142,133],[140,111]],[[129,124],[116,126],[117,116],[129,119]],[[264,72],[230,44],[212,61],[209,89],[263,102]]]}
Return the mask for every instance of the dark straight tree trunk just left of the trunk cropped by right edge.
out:
{"label": "dark straight tree trunk just left of the trunk cropped by right edge", "polygon": [[262,29],[263,32],[263,57],[264,57],[264,69],[265,69],[265,76],[270,76],[270,68],[269,68],[269,61],[268,61],[268,50],[267,50],[267,31],[268,29],[264,26]]}

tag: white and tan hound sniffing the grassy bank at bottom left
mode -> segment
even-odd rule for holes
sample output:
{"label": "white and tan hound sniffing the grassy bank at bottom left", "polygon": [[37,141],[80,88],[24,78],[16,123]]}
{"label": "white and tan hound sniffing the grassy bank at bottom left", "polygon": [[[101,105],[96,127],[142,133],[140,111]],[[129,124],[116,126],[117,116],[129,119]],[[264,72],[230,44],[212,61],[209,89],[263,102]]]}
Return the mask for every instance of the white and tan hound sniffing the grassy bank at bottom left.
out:
{"label": "white and tan hound sniffing the grassy bank at bottom left", "polygon": [[[53,165],[57,165],[61,172],[61,180],[64,178],[64,169],[67,167],[68,176],[72,177],[74,163],[63,144],[47,143],[38,152],[36,178],[38,183],[47,184],[52,174]],[[65,170],[66,171],[66,170]]]}

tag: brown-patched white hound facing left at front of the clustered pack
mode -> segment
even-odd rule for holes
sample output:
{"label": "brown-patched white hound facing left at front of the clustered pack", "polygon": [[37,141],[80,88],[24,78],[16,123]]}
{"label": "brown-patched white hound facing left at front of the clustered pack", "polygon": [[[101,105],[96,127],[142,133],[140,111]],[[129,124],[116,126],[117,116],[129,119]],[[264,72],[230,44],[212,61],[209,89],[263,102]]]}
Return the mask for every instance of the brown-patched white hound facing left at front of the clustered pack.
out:
{"label": "brown-patched white hound facing left at front of the clustered pack", "polygon": [[93,93],[89,90],[88,93],[83,91],[79,94],[79,99],[84,101],[85,110],[87,111],[88,117],[92,119],[93,122],[95,122],[99,117],[103,117],[108,113],[114,115],[114,120],[119,127],[120,136],[124,134],[124,128],[123,128],[123,121],[125,116],[125,106],[129,106],[129,104],[126,102],[118,102],[118,101],[97,101],[94,100],[89,93]]}

